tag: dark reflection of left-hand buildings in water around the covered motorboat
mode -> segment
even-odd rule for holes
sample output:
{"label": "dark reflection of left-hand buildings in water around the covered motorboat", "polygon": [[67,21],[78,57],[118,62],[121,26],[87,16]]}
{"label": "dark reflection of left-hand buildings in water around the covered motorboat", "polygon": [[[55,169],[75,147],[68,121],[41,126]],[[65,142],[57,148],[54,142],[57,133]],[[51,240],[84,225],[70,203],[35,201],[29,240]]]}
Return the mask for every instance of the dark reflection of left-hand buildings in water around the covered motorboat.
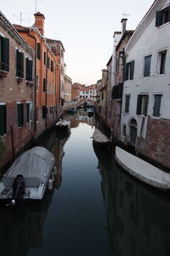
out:
{"label": "dark reflection of left-hand buildings in water around the covered motorboat", "polygon": [[54,154],[57,167],[54,188],[46,191],[42,201],[26,202],[24,205],[10,209],[3,204],[0,205],[1,256],[25,256],[31,247],[42,247],[43,225],[54,189],[59,189],[61,185],[64,145],[69,136],[70,131],[58,133],[54,129],[37,139],[36,145],[48,148]]}

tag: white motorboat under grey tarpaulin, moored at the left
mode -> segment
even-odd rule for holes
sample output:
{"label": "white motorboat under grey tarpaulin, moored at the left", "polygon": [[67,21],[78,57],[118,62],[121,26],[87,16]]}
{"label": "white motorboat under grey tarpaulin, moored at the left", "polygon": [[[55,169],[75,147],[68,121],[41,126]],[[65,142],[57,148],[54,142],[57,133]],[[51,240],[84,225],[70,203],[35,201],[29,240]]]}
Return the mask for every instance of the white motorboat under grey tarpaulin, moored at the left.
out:
{"label": "white motorboat under grey tarpaulin, moored at the left", "polygon": [[54,170],[54,155],[46,148],[34,147],[21,154],[0,181],[0,199],[14,198],[14,180],[23,177],[24,199],[42,200]]}

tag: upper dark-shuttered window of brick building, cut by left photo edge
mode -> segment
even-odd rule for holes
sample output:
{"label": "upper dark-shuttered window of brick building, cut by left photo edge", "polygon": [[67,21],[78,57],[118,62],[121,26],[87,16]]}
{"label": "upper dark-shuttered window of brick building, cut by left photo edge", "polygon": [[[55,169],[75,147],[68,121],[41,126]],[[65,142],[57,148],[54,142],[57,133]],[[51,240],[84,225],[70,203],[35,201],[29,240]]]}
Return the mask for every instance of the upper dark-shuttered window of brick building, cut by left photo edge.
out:
{"label": "upper dark-shuttered window of brick building, cut by left photo edge", "polygon": [[9,71],[9,40],[0,35],[0,70]]}

